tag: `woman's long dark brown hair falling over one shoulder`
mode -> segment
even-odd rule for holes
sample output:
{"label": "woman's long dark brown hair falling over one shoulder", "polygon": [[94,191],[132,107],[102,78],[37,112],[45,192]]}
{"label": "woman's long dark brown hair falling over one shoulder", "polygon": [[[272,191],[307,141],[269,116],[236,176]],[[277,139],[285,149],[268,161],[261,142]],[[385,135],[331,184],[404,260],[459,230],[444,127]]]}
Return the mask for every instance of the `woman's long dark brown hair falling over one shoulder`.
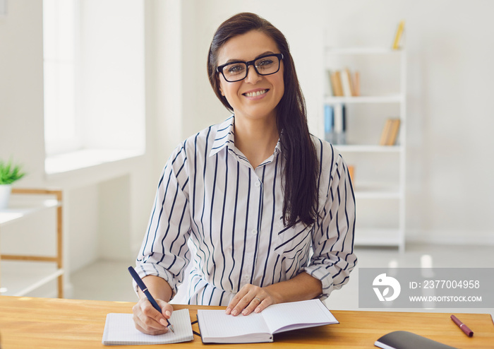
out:
{"label": "woman's long dark brown hair falling over one shoulder", "polygon": [[284,162],[283,222],[288,227],[299,222],[312,225],[318,215],[318,160],[308,131],[306,102],[296,76],[287,39],[282,32],[254,13],[239,13],[225,20],[212,38],[207,57],[210,83],[219,100],[233,112],[227,98],[219,92],[217,54],[231,37],[251,30],[258,30],[271,37],[284,57],[284,95],[277,105],[276,114]]}

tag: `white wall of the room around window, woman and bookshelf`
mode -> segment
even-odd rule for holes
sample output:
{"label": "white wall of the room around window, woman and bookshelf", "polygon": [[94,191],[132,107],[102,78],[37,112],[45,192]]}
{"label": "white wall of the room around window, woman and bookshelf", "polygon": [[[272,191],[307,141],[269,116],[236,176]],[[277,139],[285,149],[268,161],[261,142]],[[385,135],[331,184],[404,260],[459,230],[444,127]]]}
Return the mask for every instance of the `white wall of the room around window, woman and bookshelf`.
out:
{"label": "white wall of the room around window, woman and bookshelf", "polygon": [[[41,4],[9,1],[0,18],[0,157],[13,155],[25,164],[23,187],[66,189],[70,270],[102,256],[100,248],[113,237],[102,239],[102,230],[111,227],[128,227],[122,251],[112,256],[133,259],[169,153],[186,136],[227,117],[207,81],[206,55],[217,26],[240,11],[259,13],[287,36],[314,133],[322,117],[324,43],[387,47],[405,19],[407,233],[436,242],[494,243],[492,1],[147,0],[146,154],[48,179]],[[113,207],[108,195],[131,203]]]}

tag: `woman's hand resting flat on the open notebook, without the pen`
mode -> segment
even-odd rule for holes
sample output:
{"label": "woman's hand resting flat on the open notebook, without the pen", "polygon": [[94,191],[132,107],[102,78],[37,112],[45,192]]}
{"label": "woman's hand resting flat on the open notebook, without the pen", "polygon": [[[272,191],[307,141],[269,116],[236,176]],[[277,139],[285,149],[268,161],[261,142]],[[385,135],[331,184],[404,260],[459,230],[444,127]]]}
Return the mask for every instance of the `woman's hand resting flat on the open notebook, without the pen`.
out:
{"label": "woman's hand resting flat on the open notebook, without the pen", "polygon": [[231,299],[227,307],[227,315],[234,317],[238,314],[248,315],[251,312],[262,312],[271,304],[276,304],[275,296],[265,288],[259,286],[243,285],[237,294]]}

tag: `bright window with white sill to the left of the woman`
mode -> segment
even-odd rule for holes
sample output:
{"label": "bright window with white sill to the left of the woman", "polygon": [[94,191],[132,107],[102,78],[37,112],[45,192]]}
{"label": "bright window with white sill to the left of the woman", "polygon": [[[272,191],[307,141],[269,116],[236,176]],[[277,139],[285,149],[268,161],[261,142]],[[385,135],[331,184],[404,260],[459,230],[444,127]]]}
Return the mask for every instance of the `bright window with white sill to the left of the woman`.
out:
{"label": "bright window with white sill to the left of the woman", "polygon": [[43,0],[50,174],[144,153],[144,1]]}

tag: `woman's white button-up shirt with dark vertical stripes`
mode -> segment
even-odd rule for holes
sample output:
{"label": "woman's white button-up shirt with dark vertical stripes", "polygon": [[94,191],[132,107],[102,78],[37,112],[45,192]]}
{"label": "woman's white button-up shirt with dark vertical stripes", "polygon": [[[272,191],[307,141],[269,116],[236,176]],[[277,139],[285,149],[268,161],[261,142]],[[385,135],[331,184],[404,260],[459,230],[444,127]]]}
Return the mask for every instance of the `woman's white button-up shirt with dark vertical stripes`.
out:
{"label": "woman's white button-up shirt with dark vertical stripes", "polygon": [[[349,280],[355,198],[343,158],[312,136],[318,153],[320,218],[284,227],[282,148],[257,168],[234,144],[234,117],[181,143],[159,179],[137,258],[141,277],[188,277],[189,304],[227,305],[240,288],[264,287],[305,271],[325,299]],[[189,261],[191,273],[184,275]]]}

